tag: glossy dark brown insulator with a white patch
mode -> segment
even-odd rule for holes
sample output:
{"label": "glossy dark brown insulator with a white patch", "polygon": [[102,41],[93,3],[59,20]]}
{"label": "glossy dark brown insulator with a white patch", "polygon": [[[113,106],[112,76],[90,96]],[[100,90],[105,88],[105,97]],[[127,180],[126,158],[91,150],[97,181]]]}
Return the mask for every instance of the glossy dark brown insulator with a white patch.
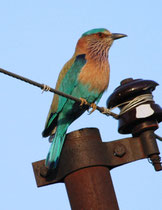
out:
{"label": "glossy dark brown insulator with a white patch", "polygon": [[[155,90],[157,85],[158,83],[152,80],[134,80],[132,78],[122,80],[120,86],[107,99],[107,108],[113,108],[143,94],[152,94],[152,91]],[[120,106],[119,108],[121,109],[122,107]],[[132,107],[132,109],[120,116],[118,132],[121,134],[133,133],[136,135],[144,130],[156,130],[158,128],[158,122],[161,121],[162,108],[155,104],[154,101],[143,102],[143,104]]]}

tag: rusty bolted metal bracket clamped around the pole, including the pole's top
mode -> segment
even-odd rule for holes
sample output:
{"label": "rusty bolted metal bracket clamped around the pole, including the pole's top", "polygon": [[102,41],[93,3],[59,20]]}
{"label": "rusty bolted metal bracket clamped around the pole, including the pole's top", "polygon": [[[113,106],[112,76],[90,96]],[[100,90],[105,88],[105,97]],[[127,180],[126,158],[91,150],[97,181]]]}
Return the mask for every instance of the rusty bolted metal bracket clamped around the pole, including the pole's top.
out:
{"label": "rusty bolted metal bracket clamped around the pole, including the pole's top", "polygon": [[[159,154],[158,148],[153,154]],[[67,134],[58,167],[48,176],[45,160],[32,165],[37,186],[41,187],[63,182],[67,175],[82,168],[105,166],[112,169],[147,157],[140,137],[102,142],[98,129],[85,128]]]}

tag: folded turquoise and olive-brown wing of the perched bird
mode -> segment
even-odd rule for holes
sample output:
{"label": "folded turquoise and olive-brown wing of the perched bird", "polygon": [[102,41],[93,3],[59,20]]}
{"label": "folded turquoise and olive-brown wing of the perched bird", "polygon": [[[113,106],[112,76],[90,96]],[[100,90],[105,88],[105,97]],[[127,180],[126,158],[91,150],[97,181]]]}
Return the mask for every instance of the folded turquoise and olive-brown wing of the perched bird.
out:
{"label": "folded turquoise and olive-brown wing of the perched bird", "polygon": [[[71,94],[77,85],[78,74],[86,63],[85,54],[73,56],[72,59],[65,64],[60,72],[56,89],[66,94]],[[62,110],[67,98],[54,95],[51,108],[49,110],[45,129],[42,133],[43,137],[49,136],[57,125],[58,113]],[[53,133],[53,132],[52,132]]]}

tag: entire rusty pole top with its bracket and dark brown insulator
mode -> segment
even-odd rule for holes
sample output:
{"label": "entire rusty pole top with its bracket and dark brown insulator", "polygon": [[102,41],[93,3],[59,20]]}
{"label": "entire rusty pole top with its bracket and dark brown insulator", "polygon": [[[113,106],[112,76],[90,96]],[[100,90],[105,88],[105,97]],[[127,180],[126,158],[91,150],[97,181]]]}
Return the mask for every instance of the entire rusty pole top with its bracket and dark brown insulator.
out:
{"label": "entire rusty pole top with its bracket and dark brown insulator", "polygon": [[67,134],[55,170],[48,170],[45,160],[33,163],[37,186],[64,182],[73,210],[119,210],[111,169],[149,158],[156,171],[162,170],[154,134],[162,121],[162,108],[152,96],[157,85],[152,80],[123,80],[108,98],[107,107],[119,107],[118,131],[132,137],[102,142],[96,128]]}

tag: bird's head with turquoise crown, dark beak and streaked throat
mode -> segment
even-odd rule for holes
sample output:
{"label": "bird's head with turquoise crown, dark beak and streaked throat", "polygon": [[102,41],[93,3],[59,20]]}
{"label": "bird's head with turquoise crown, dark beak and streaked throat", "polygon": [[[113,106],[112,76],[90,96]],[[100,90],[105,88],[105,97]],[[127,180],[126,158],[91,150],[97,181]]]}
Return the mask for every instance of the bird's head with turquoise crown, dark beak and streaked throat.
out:
{"label": "bird's head with turquoise crown, dark beak and streaked throat", "polygon": [[78,40],[76,54],[87,54],[94,58],[101,56],[107,58],[113,41],[126,36],[125,34],[111,33],[104,28],[89,30]]}

